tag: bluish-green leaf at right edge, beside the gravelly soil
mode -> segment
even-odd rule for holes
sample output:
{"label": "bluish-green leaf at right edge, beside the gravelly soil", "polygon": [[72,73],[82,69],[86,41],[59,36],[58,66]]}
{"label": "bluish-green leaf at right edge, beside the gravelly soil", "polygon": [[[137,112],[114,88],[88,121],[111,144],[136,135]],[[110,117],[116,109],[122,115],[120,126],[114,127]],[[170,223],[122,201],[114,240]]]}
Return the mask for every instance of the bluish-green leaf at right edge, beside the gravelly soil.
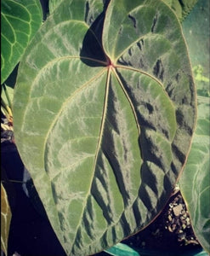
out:
{"label": "bluish-green leaf at right edge, beside the gravelly soil", "polygon": [[198,96],[198,120],[190,155],[180,178],[180,189],[201,245],[210,253],[210,102]]}

